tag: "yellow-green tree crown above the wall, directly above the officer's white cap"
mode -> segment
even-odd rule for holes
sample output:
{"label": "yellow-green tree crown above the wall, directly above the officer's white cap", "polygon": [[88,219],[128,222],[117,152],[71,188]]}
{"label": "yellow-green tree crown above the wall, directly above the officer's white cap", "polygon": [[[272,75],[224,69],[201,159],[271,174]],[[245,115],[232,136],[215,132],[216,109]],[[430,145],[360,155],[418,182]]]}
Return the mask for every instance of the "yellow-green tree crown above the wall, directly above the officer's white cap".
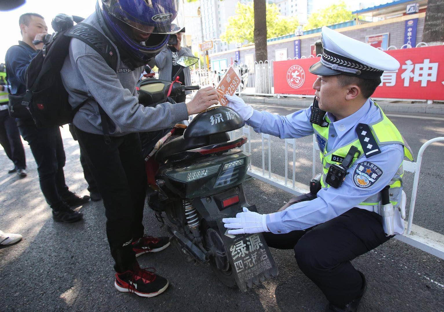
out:
{"label": "yellow-green tree crown above the wall, directly above the officer's white cap", "polygon": [[333,25],[349,20],[354,20],[355,16],[347,8],[344,1],[332,4],[326,8],[313,12],[304,26],[305,30]]}

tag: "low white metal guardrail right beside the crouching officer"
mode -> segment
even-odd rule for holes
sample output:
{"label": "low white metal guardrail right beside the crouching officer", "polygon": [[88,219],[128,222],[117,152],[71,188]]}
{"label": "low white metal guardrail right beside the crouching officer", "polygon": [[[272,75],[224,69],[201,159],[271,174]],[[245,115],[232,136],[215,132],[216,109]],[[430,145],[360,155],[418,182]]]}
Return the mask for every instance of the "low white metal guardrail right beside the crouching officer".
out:
{"label": "low white metal guardrail right beside the crouching officer", "polygon": [[[247,136],[248,144],[244,144],[243,149],[246,151],[248,145],[248,152],[251,153],[251,127],[245,126],[242,128],[242,133]],[[235,136],[234,132],[230,133],[231,138]],[[247,174],[259,179],[263,182],[269,183],[275,187],[280,188],[281,190],[287,191],[293,195],[302,195],[309,192],[308,185],[304,183],[300,183],[296,181],[296,139],[285,139],[285,176],[277,175],[272,172],[272,155],[271,155],[271,140],[269,134],[263,134],[261,136],[262,140],[262,168],[258,168],[250,164]],[[268,144],[268,170],[265,167],[265,140],[267,140]],[[424,143],[417,156],[417,161],[410,162],[404,160],[404,171],[414,173],[413,178],[413,189],[410,200],[410,210],[408,213],[408,222],[406,222],[407,231],[404,232],[404,235],[396,235],[395,238],[405,242],[411,246],[419,248],[420,250],[424,250],[427,253],[431,253],[436,257],[440,257],[444,259],[444,235],[440,233],[436,233],[432,230],[425,229],[421,226],[417,226],[413,224],[413,215],[415,213],[415,204],[416,204],[416,194],[418,191],[419,185],[419,175],[420,168],[422,162],[422,156],[424,150],[430,145],[438,141],[444,141],[444,137],[436,137],[432,140],[428,140]],[[288,146],[293,146],[293,176],[291,181],[288,178]],[[316,175],[316,159],[319,157],[319,148],[315,143],[315,137],[313,135],[313,165],[312,165],[312,173],[313,176]]]}

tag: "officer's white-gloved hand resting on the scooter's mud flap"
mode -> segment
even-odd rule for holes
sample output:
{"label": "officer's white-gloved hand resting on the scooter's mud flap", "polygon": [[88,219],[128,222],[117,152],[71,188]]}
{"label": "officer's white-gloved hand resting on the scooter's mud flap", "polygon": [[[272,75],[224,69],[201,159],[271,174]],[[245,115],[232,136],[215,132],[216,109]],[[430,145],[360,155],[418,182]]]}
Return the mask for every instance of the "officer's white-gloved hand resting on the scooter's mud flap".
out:
{"label": "officer's white-gloved hand resting on the scooter's mud flap", "polygon": [[223,218],[224,226],[229,230],[228,234],[246,234],[270,232],[267,227],[266,214],[258,214],[243,208],[244,212],[236,214],[236,218]]}

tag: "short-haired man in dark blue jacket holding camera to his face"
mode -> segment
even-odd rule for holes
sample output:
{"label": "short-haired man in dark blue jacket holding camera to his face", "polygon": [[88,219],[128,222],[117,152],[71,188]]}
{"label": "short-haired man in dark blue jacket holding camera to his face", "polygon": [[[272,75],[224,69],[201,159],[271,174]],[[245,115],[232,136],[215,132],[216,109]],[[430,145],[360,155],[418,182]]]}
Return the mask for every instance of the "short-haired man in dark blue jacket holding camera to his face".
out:
{"label": "short-haired man in dark blue jacket holding camera to his face", "polygon": [[[11,93],[21,95],[26,92],[26,70],[44,41],[49,38],[48,27],[43,16],[25,13],[19,19],[22,41],[6,52],[6,70]],[[52,217],[57,222],[76,222],[83,214],[73,211],[70,206],[79,206],[89,201],[89,196],[82,198],[69,191],[65,183],[63,167],[65,151],[62,136],[57,126],[37,128],[31,115],[17,118],[17,125],[24,140],[28,141],[32,155],[37,163],[40,188],[52,208]]]}

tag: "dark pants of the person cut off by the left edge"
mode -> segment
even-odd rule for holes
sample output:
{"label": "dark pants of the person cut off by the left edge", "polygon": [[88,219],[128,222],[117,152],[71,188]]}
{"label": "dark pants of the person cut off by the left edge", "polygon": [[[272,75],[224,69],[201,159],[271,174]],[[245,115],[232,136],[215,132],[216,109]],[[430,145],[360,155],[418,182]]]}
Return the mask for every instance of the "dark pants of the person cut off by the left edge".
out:
{"label": "dark pants of the person cut off by the left edge", "polygon": [[0,111],[0,144],[17,169],[26,168],[25,150],[16,119],[9,116],[8,109]]}

